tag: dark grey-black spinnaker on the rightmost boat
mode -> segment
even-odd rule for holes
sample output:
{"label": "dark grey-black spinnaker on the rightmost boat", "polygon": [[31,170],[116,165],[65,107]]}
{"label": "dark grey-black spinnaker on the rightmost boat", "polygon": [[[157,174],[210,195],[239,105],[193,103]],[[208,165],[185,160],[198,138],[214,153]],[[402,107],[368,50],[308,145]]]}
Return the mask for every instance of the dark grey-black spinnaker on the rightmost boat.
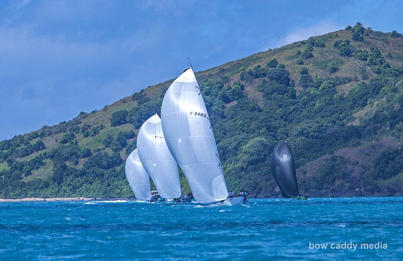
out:
{"label": "dark grey-black spinnaker on the rightmost boat", "polygon": [[284,198],[298,197],[294,159],[286,141],[280,144],[273,153],[272,174]]}

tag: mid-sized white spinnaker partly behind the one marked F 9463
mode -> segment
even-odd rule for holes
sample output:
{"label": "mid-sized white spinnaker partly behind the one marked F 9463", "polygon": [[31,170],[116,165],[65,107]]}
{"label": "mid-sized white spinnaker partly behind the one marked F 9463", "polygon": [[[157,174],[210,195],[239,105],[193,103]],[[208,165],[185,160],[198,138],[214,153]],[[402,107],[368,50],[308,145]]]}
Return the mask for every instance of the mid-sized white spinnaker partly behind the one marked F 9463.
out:
{"label": "mid-sized white spinnaker partly behind the one marked F 9463", "polygon": [[178,164],[172,157],[162,132],[161,119],[155,114],[143,123],[137,136],[137,150],[158,193],[164,199],[182,195]]}

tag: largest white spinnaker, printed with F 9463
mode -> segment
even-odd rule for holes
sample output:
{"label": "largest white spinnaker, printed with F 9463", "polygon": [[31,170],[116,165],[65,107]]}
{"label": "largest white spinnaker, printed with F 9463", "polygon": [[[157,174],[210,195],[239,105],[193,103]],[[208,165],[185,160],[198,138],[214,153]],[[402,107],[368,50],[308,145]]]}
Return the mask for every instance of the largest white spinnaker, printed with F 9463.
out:
{"label": "largest white spinnaker, printed with F 9463", "polygon": [[209,114],[191,68],[168,88],[161,118],[165,141],[183,170],[194,199],[203,204],[227,199]]}

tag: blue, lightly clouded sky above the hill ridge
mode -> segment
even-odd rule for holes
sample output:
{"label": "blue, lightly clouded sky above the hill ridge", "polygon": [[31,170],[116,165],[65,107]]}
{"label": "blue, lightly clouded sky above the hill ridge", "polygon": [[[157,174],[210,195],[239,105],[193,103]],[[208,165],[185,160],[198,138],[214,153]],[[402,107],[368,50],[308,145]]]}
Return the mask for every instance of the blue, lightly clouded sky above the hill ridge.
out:
{"label": "blue, lightly clouded sky above the hill ridge", "polygon": [[0,1],[0,140],[357,21],[403,32],[402,1]]}

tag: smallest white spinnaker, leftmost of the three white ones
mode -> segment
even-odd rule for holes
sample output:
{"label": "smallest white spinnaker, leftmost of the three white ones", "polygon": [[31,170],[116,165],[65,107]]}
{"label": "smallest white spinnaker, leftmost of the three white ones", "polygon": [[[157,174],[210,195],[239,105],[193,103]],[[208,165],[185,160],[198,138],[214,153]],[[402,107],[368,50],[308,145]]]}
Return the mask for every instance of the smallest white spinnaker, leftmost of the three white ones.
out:
{"label": "smallest white spinnaker, leftmost of the three white ones", "polygon": [[126,159],[124,167],[126,178],[136,199],[147,201],[151,199],[150,176],[140,161],[137,149],[132,151]]}

